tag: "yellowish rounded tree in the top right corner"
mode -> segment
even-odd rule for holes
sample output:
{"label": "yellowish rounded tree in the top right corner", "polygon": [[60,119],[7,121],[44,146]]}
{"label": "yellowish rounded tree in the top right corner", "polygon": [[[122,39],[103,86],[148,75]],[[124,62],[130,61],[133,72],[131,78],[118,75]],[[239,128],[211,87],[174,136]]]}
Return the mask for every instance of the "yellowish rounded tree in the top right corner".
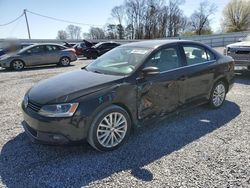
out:
{"label": "yellowish rounded tree in the top right corner", "polygon": [[250,0],[231,0],[223,10],[223,18],[227,32],[250,29]]}

